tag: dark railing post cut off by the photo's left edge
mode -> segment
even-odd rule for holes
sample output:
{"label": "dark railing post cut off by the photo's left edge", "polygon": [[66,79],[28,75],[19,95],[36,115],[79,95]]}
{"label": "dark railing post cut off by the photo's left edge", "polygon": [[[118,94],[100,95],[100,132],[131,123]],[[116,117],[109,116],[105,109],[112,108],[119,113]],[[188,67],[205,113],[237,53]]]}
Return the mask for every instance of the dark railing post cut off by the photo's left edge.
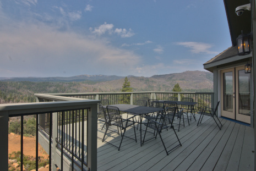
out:
{"label": "dark railing post cut off by the photo's left edge", "polygon": [[8,170],[8,111],[0,112],[0,166],[1,170]]}

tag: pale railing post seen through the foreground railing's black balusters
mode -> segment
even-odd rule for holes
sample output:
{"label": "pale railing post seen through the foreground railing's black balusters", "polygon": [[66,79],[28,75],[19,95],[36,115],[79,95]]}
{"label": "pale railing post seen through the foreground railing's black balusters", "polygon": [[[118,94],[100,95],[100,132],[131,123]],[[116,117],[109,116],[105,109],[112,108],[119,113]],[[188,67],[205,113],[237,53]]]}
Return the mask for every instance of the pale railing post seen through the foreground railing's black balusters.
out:
{"label": "pale railing post seen through the foreground railing's black balusters", "polygon": [[57,164],[57,137],[58,137],[58,113],[52,113],[52,170],[56,170]]}

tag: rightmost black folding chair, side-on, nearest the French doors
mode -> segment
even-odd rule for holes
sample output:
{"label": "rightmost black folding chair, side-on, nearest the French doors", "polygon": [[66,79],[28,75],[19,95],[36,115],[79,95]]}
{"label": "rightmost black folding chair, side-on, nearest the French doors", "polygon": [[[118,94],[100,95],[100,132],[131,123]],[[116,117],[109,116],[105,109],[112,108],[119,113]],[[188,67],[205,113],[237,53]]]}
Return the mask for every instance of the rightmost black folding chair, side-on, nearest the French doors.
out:
{"label": "rightmost black folding chair, side-on, nearest the French doors", "polygon": [[[197,126],[198,126],[199,123],[202,122],[204,115],[207,115],[207,116],[210,116],[210,117],[212,117],[212,118],[214,119],[215,123],[217,124],[217,126],[218,126],[219,129],[221,130],[221,128],[222,128],[223,125],[221,124],[221,122],[220,122],[220,120],[219,120],[219,118],[217,117],[217,114],[216,114],[217,109],[218,109],[218,106],[219,106],[219,103],[220,103],[220,101],[217,103],[215,109],[214,109],[214,108],[209,108],[209,107],[203,107],[202,111],[201,111],[201,112],[198,112],[198,113],[200,114],[200,118],[199,118],[199,120],[198,120]],[[219,121],[219,123],[217,123],[217,120],[215,120],[214,117],[217,118],[217,120]],[[201,120],[200,120],[200,119],[201,119]]]}

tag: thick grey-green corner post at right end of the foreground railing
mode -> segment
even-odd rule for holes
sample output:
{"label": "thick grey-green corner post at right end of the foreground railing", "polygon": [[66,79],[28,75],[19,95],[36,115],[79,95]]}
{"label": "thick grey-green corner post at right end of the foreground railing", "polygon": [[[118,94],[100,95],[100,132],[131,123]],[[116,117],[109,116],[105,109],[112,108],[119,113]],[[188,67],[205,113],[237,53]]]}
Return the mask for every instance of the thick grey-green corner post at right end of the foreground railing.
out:
{"label": "thick grey-green corner post at right end of the foreground railing", "polygon": [[97,170],[97,104],[93,104],[88,112],[88,168]]}

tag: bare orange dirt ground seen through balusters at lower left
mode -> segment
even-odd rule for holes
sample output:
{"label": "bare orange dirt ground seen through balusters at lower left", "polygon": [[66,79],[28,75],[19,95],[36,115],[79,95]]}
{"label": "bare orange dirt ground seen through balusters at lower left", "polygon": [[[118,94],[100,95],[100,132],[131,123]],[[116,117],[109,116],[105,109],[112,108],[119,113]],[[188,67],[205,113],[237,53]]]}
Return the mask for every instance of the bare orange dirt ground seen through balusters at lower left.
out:
{"label": "bare orange dirt ground seen through balusters at lower left", "polygon": [[[20,135],[16,135],[10,133],[8,135],[8,154],[13,151],[20,151]],[[43,156],[43,158],[47,159],[48,154],[43,150],[41,145],[39,144],[39,156]],[[24,155],[29,155],[36,157],[36,138],[35,137],[23,137],[23,153]]]}

